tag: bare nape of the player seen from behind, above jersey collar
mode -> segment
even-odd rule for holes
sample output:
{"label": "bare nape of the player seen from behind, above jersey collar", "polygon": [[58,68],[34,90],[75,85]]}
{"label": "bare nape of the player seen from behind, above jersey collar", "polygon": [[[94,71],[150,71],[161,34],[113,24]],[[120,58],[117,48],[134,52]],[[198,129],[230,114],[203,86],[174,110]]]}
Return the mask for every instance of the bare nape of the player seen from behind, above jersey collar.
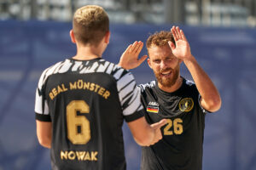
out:
{"label": "bare nape of the player seen from behind, above jersey collar", "polygon": [[101,57],[102,52],[98,48],[92,46],[83,46],[77,48],[77,54],[73,56],[73,59],[88,60]]}

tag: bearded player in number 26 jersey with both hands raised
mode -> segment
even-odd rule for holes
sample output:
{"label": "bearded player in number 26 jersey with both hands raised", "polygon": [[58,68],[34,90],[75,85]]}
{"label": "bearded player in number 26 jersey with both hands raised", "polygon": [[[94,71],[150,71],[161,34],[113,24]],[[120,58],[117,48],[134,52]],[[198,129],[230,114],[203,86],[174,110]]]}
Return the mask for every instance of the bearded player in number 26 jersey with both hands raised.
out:
{"label": "bearded player in number 26 jersey with both hands raised", "polygon": [[[133,69],[147,58],[138,59],[143,42],[134,42],[119,65]],[[133,50],[137,55],[132,54]],[[141,170],[201,170],[202,145],[207,111],[218,111],[221,99],[207,73],[190,52],[189,42],[179,27],[156,32],[147,40],[148,65],[156,81],[139,85],[149,123],[166,118],[163,139],[142,149]],[[187,66],[195,82],[180,76]]]}

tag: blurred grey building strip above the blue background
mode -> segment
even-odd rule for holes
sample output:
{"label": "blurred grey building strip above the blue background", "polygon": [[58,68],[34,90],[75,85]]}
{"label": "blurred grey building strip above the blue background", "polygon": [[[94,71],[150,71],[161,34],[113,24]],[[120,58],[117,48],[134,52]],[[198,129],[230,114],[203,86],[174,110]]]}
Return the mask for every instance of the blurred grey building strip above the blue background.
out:
{"label": "blurred grey building strip above the blue background", "polygon": [[112,22],[256,26],[255,0],[0,0],[0,20],[72,20],[76,8],[101,5]]}

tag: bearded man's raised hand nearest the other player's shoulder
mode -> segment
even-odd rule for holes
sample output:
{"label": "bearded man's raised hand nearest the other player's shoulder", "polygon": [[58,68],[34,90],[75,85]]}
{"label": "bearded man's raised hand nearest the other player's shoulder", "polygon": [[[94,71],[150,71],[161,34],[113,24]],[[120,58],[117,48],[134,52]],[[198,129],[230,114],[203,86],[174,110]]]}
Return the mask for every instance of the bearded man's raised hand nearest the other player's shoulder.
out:
{"label": "bearded man's raised hand nearest the other player's shoulder", "polygon": [[134,69],[137,66],[141,65],[145,59],[147,59],[147,55],[143,55],[141,59],[138,59],[138,55],[141,53],[143,49],[143,42],[134,42],[126,48],[125,52],[122,54],[119,65],[127,70]]}

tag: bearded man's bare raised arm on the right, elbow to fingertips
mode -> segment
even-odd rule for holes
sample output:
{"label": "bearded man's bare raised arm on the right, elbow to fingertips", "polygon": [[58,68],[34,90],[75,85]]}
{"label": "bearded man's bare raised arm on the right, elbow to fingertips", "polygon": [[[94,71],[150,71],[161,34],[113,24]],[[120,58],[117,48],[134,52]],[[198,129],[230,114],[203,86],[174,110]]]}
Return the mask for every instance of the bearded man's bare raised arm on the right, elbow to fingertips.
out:
{"label": "bearded man's bare raised arm on the right, elbow to fingertips", "polygon": [[181,59],[189,69],[196,88],[201,94],[201,106],[207,111],[218,111],[221,106],[218,89],[214,86],[210,77],[207,76],[207,73],[203,71],[195,57],[191,54],[189,42],[187,41],[183,31],[174,26],[171,31],[176,42],[176,46],[173,42],[169,42],[169,45],[172,48],[172,53],[178,59]]}

